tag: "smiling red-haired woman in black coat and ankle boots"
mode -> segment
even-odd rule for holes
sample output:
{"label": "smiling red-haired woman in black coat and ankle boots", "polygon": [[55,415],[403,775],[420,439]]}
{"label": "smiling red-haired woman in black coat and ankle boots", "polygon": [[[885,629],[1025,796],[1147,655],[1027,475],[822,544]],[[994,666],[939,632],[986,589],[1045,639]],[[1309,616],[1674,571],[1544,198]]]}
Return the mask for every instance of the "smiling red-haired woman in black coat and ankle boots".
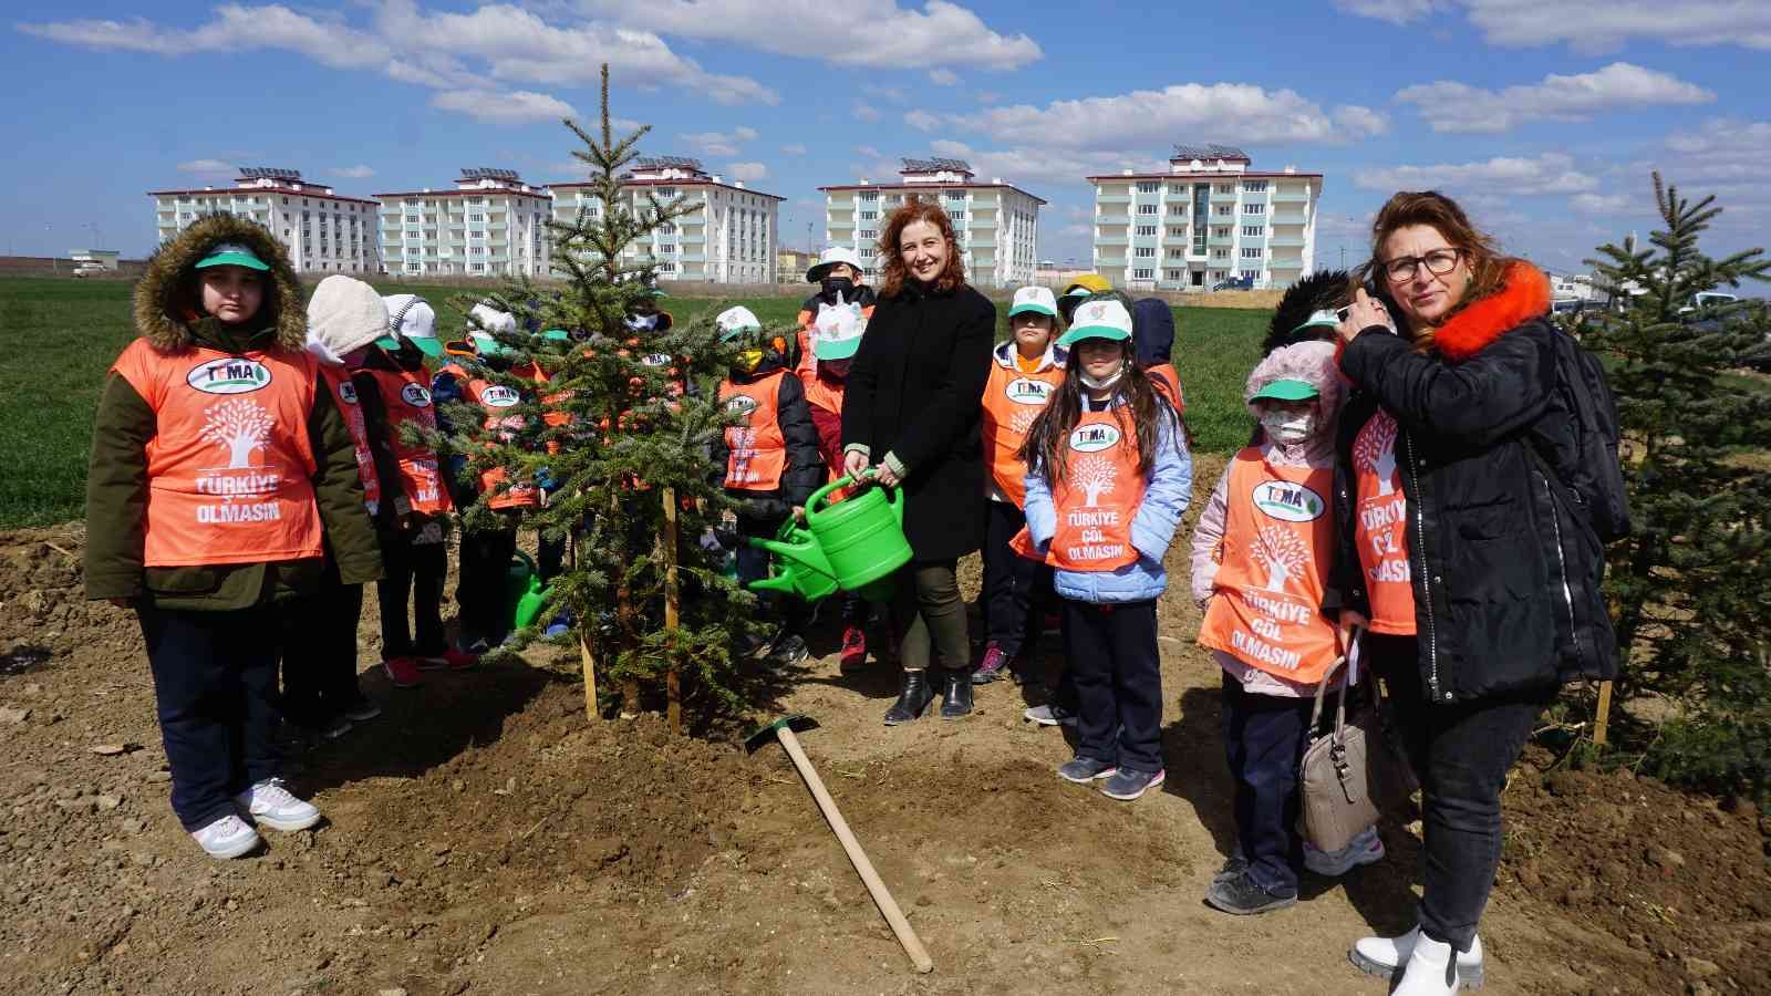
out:
{"label": "smiling red-haired woman in black coat and ankle boots", "polygon": [[912,200],[880,237],[884,285],[861,337],[843,395],[843,470],[873,466],[903,487],[903,530],[916,558],[898,576],[893,627],[903,688],[886,725],[923,714],[935,689],[932,650],[944,665],[940,716],[972,711],[971,638],[955,578],[985,532],[985,463],[978,436],[995,305],[965,284],[947,213]]}

